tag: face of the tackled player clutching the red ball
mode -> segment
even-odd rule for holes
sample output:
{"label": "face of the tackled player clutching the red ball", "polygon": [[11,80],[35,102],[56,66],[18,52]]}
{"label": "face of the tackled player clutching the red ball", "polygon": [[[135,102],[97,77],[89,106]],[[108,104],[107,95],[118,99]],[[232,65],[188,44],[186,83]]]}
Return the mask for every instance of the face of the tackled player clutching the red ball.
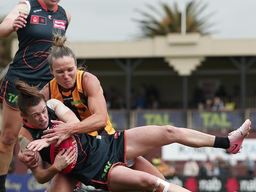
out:
{"label": "face of the tackled player clutching the red ball", "polygon": [[24,116],[28,123],[38,129],[46,129],[48,126],[48,112],[46,109],[45,101],[42,100],[38,105],[28,107],[27,114]]}

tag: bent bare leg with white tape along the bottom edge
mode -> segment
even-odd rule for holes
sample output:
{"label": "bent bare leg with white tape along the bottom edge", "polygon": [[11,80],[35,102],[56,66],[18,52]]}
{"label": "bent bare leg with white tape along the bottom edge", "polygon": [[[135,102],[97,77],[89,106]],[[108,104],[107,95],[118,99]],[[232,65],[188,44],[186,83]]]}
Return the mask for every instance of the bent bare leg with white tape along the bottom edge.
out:
{"label": "bent bare leg with white tape along the bottom edge", "polygon": [[109,177],[109,188],[113,192],[189,192],[181,186],[167,183],[154,175],[116,165]]}

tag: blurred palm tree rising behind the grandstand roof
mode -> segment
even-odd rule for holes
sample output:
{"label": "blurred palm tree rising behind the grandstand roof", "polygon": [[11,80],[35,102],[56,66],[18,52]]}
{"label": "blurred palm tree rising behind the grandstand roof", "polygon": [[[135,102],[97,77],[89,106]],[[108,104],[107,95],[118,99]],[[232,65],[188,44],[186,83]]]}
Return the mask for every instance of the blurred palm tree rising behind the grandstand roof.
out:
{"label": "blurred palm tree rising behind the grandstand roof", "polygon": [[[163,2],[159,2],[159,4],[162,9],[161,11],[150,4],[146,6],[152,13],[137,9],[143,17],[141,20],[134,20],[139,24],[139,28],[143,33],[140,35],[141,37],[154,37],[155,35],[181,32],[181,13],[177,2],[174,2],[172,7]],[[195,1],[186,4],[186,32],[198,32],[202,35],[210,33],[208,29],[212,24],[208,24],[208,20],[213,13],[200,17],[200,14],[207,6],[207,4]]]}

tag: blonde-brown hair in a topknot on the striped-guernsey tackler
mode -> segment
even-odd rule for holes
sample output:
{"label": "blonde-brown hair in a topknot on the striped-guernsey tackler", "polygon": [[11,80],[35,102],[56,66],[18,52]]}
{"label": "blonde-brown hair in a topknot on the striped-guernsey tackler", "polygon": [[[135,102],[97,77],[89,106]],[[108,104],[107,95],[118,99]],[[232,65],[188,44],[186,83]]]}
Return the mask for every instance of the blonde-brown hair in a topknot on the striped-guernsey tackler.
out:
{"label": "blonde-brown hair in a topknot on the striped-guernsey tackler", "polygon": [[65,56],[73,58],[76,63],[76,55],[74,54],[73,50],[65,46],[67,37],[65,35],[62,36],[60,33],[54,33],[53,40],[54,40],[54,45],[51,46],[49,57],[48,57],[50,69],[52,69],[52,64],[55,59],[59,59]]}

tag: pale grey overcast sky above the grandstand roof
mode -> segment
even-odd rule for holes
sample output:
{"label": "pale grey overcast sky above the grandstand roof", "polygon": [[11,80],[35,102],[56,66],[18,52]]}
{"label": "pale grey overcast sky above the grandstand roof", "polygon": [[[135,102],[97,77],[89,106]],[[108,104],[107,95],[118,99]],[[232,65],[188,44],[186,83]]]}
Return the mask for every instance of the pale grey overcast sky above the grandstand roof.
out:
{"label": "pale grey overcast sky above the grandstand roof", "polygon": [[[20,0],[4,0],[0,16],[6,15]],[[174,0],[161,0],[173,4]],[[181,5],[188,0],[176,0]],[[61,0],[71,15],[67,30],[69,41],[132,40],[139,28],[132,18],[140,18],[135,9],[147,11],[145,4],[158,6],[158,0]],[[256,0],[201,0],[208,3],[205,14],[215,12],[215,39],[256,38]]]}

